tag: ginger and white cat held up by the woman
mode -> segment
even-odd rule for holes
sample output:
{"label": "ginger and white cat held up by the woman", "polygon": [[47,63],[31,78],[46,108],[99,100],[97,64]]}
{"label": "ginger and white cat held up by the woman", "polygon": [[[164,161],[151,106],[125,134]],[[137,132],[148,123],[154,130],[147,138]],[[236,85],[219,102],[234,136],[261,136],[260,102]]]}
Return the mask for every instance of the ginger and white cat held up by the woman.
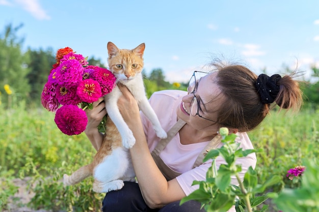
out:
{"label": "ginger and white cat held up by the woman", "polygon": [[[144,49],[144,43],[135,49],[128,50],[118,49],[116,45],[109,42],[109,69],[117,78],[117,82],[125,85],[135,97],[139,108],[151,121],[156,135],[159,138],[166,138],[167,134],[161,127],[145,94],[141,73],[144,66]],[[107,193],[121,189],[124,186],[123,181],[135,181],[135,173],[128,148],[132,147],[136,140],[117,107],[117,101],[121,95],[122,93],[117,86],[111,93],[105,95],[105,108],[108,112],[108,118],[106,123],[107,132],[104,135],[102,145],[91,164],[79,168],[70,176],[64,174],[64,185],[74,185],[93,175],[93,191]]]}

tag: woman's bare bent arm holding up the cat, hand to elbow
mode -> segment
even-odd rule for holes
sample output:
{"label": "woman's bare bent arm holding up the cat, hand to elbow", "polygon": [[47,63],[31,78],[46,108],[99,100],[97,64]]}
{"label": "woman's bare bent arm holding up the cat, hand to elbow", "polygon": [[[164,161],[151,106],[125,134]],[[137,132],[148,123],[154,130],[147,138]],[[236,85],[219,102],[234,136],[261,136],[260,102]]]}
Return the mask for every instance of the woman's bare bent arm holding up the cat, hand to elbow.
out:
{"label": "woman's bare bent arm holding up the cat, hand to elbow", "polygon": [[177,180],[167,181],[149,152],[136,100],[126,87],[119,88],[123,93],[123,97],[118,101],[120,112],[136,138],[135,145],[130,148],[130,154],[145,202],[151,208],[158,208],[180,200],[185,193]]}

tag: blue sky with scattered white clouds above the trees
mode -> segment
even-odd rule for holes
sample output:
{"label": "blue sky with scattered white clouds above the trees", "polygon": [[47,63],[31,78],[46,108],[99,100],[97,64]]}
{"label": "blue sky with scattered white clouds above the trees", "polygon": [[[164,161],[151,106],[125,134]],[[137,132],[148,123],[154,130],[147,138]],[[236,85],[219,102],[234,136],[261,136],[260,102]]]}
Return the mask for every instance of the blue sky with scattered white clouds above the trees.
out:
{"label": "blue sky with scattered white clouds above the trees", "polygon": [[[107,65],[107,43],[145,43],[144,70],[188,82],[212,58],[245,64],[256,74],[319,67],[319,1],[44,1],[0,0],[0,35],[23,26],[23,50],[71,47]],[[49,70],[48,70],[49,71]]]}

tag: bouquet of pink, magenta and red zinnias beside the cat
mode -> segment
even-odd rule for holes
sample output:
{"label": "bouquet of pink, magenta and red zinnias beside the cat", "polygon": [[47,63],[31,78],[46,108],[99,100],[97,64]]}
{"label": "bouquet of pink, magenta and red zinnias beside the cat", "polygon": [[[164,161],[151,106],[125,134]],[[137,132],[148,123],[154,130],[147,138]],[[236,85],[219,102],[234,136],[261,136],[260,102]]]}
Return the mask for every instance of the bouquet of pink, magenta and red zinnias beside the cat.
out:
{"label": "bouquet of pink, magenta and red zinnias beside the cat", "polygon": [[[52,65],[41,94],[42,106],[56,113],[55,122],[66,135],[85,130],[88,118],[84,110],[110,93],[116,81],[108,69],[89,65],[87,58],[75,53],[69,47],[57,51],[57,63]],[[104,122],[105,119],[100,123],[100,132]]]}

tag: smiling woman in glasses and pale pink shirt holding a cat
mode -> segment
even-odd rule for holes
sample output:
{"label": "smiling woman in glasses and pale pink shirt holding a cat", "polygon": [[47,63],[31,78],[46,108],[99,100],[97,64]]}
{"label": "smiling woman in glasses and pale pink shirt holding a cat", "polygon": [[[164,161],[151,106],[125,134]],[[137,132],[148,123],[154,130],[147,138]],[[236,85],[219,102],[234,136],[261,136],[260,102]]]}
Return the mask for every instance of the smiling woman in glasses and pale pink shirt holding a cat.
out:
{"label": "smiling woman in glasses and pale pink shirt holding a cat", "polygon": [[[172,136],[161,142],[127,88],[120,86],[123,97],[118,106],[136,138],[129,152],[138,184],[125,182],[121,190],[107,193],[103,211],[204,211],[199,202],[180,206],[179,201],[197,189],[192,186],[194,180],[205,180],[211,161],[202,163],[203,153],[222,146],[219,129],[227,127],[236,133],[241,148],[252,149],[246,132],[261,123],[273,102],[280,109],[296,110],[302,103],[298,82],[291,76],[257,77],[244,66],[212,65],[213,72],[194,72],[188,92],[164,90],[150,98],[162,127],[171,130],[168,135]],[[102,142],[96,127],[105,114],[102,99],[87,111],[85,133],[96,149]],[[217,167],[225,163],[221,157],[216,162]],[[256,156],[250,154],[236,163],[242,165],[243,180],[247,169],[255,168]],[[231,183],[237,184],[236,179]]]}

